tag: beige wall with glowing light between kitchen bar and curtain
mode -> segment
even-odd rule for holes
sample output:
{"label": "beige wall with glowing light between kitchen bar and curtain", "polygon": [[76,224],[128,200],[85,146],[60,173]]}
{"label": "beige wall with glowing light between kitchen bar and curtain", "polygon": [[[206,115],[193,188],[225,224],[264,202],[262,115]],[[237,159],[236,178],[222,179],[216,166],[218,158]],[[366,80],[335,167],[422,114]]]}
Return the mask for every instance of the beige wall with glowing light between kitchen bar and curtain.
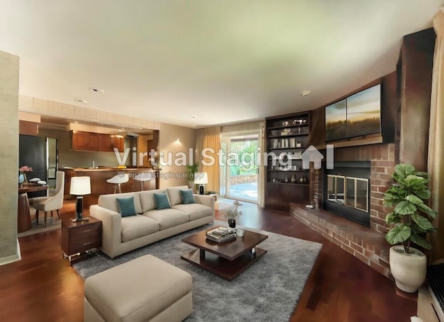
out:
{"label": "beige wall with glowing light between kitchen bar and curtain", "polygon": [[[196,130],[188,127],[160,123],[159,136],[159,151],[164,153],[164,161],[172,161],[171,165],[160,165],[160,168],[162,168],[162,171],[160,171],[160,188],[187,186],[188,179],[185,178],[186,166],[177,166],[174,161],[181,163],[182,160],[185,160],[181,159],[181,154],[178,154],[178,152],[182,152],[187,156],[186,162],[189,162],[189,149],[191,148],[191,153],[193,154],[193,160],[191,162],[196,163],[196,161],[194,161]],[[179,141],[177,141],[178,139]],[[172,155],[173,158],[169,160],[167,158],[168,154]]]}

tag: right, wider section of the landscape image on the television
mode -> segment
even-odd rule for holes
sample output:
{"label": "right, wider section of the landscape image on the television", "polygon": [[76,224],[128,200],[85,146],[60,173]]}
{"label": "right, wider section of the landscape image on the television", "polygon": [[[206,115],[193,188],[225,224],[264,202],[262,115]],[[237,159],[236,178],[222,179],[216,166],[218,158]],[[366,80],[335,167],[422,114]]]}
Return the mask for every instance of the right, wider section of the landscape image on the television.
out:
{"label": "right, wider section of the landscape image on the television", "polygon": [[381,84],[347,98],[347,136],[381,132]]}

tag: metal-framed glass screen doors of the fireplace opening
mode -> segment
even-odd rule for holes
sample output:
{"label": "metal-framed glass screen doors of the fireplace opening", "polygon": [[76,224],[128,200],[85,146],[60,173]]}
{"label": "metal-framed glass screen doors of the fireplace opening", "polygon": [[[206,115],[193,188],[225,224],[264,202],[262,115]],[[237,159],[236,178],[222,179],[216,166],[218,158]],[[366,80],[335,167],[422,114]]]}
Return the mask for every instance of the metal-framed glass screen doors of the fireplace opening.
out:
{"label": "metal-framed glass screen doors of the fireplace opening", "polygon": [[368,179],[327,175],[329,202],[368,212]]}

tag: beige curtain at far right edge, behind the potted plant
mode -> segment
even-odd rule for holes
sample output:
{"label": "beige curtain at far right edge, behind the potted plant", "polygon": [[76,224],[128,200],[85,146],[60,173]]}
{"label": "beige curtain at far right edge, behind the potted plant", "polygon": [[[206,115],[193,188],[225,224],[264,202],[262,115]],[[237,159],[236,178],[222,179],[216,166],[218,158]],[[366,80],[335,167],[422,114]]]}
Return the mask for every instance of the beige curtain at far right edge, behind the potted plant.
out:
{"label": "beige curtain at far right edge, behind the potted plant", "polygon": [[436,33],[432,75],[432,102],[430,107],[429,155],[427,171],[431,177],[430,206],[438,213],[434,225],[437,233],[429,234],[432,242],[430,260],[444,258],[444,6],[433,19]]}

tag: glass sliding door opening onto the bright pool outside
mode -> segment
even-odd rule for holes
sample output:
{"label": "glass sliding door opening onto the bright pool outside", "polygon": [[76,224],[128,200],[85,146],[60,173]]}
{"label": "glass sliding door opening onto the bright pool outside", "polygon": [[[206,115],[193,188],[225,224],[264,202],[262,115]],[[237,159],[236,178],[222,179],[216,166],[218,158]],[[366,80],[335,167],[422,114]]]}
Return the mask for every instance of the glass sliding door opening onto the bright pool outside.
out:
{"label": "glass sliding door opening onto the bright pool outside", "polygon": [[[233,132],[221,135],[220,195],[229,199],[259,203],[260,132]],[[259,159],[259,160],[258,160]]]}

